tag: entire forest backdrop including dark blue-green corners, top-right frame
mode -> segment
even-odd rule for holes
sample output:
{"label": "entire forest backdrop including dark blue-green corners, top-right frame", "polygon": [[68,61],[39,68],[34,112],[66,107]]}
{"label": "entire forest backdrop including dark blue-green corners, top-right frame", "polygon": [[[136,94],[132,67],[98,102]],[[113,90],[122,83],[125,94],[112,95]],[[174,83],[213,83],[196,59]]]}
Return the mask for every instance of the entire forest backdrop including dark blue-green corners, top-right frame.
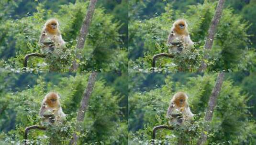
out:
{"label": "entire forest backdrop including dark blue-green corners, top-right frame", "polygon": [[[194,47],[174,58],[159,58],[155,72],[197,72],[209,53],[207,72],[255,71],[256,0],[225,0],[211,51],[204,49],[217,0],[129,1],[129,72],[152,72],[152,59],[167,53],[177,19],[188,22]],[[249,12],[250,11],[250,12]],[[181,69],[179,69],[181,68]]]}

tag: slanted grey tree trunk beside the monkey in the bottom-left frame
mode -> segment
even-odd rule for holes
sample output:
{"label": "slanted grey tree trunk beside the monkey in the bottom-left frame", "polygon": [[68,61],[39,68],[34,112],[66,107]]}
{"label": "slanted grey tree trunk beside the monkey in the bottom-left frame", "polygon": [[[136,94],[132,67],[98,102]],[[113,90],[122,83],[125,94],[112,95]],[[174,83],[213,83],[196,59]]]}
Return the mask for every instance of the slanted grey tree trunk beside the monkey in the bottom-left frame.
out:
{"label": "slanted grey tree trunk beside the monkey in the bottom-left frame", "polygon": [[[83,98],[81,100],[80,108],[78,110],[77,116],[77,131],[81,130],[80,124],[84,121],[84,115],[87,110],[87,106],[89,104],[89,98],[93,91],[94,84],[96,82],[97,73],[91,73],[89,76],[87,88],[83,93]],[[73,134],[73,138],[71,139],[69,145],[77,145],[78,135],[76,133]]]}

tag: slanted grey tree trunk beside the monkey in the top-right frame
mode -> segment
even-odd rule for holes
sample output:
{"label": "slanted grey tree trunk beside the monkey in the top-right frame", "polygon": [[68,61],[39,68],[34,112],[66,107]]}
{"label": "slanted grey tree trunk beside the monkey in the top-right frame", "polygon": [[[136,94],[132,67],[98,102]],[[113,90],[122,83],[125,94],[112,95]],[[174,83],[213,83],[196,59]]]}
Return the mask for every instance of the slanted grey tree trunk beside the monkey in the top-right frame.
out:
{"label": "slanted grey tree trunk beside the monkey in the top-right frame", "polygon": [[[217,31],[217,26],[221,20],[221,17],[222,17],[222,11],[223,11],[223,8],[224,8],[224,3],[225,3],[225,0],[219,0],[218,2],[218,5],[217,5],[217,8],[216,8],[216,11],[215,11],[215,15],[211,21],[211,27],[208,31],[208,36],[207,36],[207,39],[206,39],[206,42],[205,42],[205,45],[204,45],[204,60],[208,60],[209,56],[208,56],[208,52],[209,50],[211,50],[211,47],[212,47],[212,43],[213,43],[213,40],[214,40],[214,35],[215,35],[215,32]],[[204,60],[201,61],[201,65],[199,67],[199,72],[204,72],[206,67],[207,67],[207,64],[204,62]]]}

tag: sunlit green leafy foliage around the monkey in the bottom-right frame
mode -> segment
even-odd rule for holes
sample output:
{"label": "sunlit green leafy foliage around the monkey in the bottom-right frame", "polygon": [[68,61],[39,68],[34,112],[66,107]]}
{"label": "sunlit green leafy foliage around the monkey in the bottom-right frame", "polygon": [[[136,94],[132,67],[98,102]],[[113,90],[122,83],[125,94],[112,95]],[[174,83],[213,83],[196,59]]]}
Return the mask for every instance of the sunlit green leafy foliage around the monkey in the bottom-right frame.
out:
{"label": "sunlit green leafy foliage around the monkey in the bottom-right frame", "polygon": [[[138,76],[139,77],[139,76]],[[167,76],[165,84],[145,92],[134,92],[129,95],[129,141],[133,145],[144,145],[152,142],[154,126],[166,124],[166,111],[171,96],[179,91],[188,93],[189,106],[195,117],[191,124],[176,126],[174,130],[158,130],[156,145],[197,145],[200,133],[205,125],[211,130],[206,133],[209,145],[254,144],[250,134],[255,132],[255,121],[248,119],[248,96],[242,93],[241,87],[227,79],[218,97],[217,107],[211,123],[204,122],[204,112],[208,104],[216,74],[189,77],[186,83],[177,83]],[[234,111],[235,110],[235,111]],[[180,140],[181,139],[181,140]]]}

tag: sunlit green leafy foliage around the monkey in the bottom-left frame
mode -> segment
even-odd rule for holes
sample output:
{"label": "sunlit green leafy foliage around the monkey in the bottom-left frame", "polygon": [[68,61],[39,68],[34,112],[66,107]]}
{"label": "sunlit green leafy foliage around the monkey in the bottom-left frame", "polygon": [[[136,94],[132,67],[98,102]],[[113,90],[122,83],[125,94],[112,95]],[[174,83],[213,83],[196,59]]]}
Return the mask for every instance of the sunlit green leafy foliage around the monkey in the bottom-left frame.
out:
{"label": "sunlit green leafy foliage around the monkey in the bottom-left frame", "polygon": [[[56,91],[67,120],[63,124],[47,125],[46,131],[31,130],[29,145],[68,145],[76,130],[76,116],[89,74],[62,77],[57,85],[46,83],[43,77],[29,89],[20,92],[2,93],[0,97],[0,140],[4,143],[22,144],[24,129],[30,125],[40,125],[38,116],[45,93]],[[88,111],[79,135],[79,145],[127,144],[127,121],[122,116],[120,100],[123,98],[103,79],[95,84],[89,100]]]}

